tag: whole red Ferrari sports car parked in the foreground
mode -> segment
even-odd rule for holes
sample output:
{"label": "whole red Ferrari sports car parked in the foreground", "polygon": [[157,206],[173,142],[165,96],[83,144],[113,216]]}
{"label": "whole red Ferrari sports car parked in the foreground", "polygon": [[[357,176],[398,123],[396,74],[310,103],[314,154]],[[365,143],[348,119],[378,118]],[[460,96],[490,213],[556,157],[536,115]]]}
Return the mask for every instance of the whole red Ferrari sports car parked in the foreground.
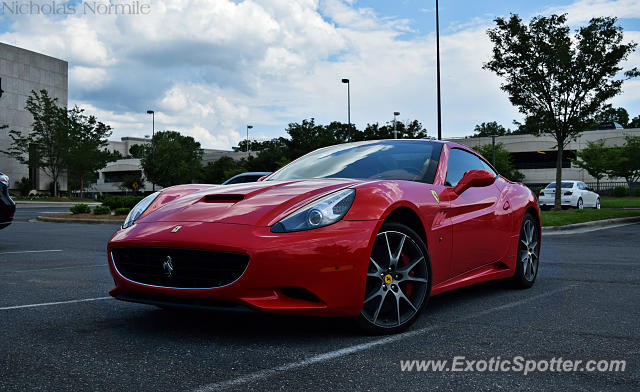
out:
{"label": "whole red Ferrari sports car parked in the foreground", "polygon": [[108,244],[118,299],[352,316],[375,333],[406,328],[445,291],[531,287],[539,254],[533,193],[431,140],[341,144],[260,182],[166,188]]}

